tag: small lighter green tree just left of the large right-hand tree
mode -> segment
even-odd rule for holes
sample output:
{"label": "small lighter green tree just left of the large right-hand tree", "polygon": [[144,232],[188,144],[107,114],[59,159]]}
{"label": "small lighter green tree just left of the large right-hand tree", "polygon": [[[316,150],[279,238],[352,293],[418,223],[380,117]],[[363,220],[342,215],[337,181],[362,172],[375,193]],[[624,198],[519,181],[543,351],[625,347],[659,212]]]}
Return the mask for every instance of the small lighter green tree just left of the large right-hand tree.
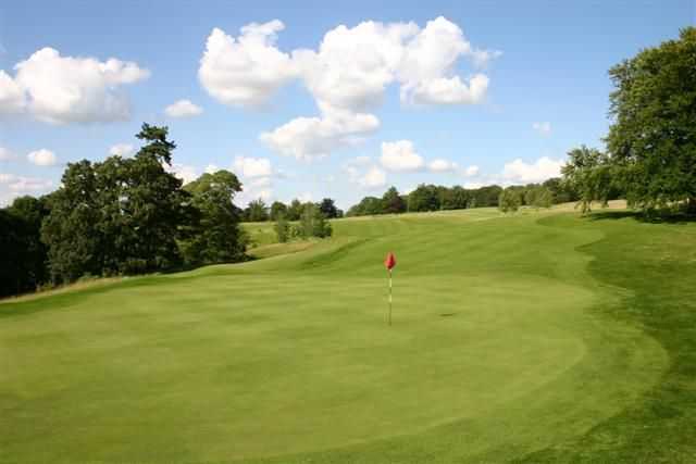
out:
{"label": "small lighter green tree just left of the large right-hand tree", "polygon": [[571,150],[568,158],[561,173],[564,181],[579,193],[581,211],[589,213],[593,201],[606,205],[616,178],[607,154],[582,146]]}

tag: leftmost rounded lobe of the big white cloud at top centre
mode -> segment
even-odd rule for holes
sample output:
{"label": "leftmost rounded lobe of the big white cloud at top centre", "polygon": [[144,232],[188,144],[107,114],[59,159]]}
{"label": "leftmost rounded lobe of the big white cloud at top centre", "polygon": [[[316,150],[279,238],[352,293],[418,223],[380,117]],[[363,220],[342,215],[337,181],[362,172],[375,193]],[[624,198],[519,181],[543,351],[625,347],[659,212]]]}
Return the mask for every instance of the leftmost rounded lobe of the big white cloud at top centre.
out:
{"label": "leftmost rounded lobe of the big white cloud at top centre", "polygon": [[198,70],[203,88],[229,105],[265,103],[283,84],[298,74],[289,54],[275,47],[277,33],[284,28],[278,20],[251,23],[241,28],[241,35],[236,39],[214,28]]}

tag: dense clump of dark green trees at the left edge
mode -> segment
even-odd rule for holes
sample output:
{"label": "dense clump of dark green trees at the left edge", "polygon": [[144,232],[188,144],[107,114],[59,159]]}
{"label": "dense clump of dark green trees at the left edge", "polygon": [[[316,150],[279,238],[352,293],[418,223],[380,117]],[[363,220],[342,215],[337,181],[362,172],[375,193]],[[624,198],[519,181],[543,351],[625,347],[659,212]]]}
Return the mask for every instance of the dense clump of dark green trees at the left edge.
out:
{"label": "dense clump of dark green trees at the left edge", "polygon": [[0,210],[0,296],[244,260],[238,178],[219,171],[183,186],[165,168],[176,148],[167,134],[144,124],[135,156],[70,163],[58,190]]}

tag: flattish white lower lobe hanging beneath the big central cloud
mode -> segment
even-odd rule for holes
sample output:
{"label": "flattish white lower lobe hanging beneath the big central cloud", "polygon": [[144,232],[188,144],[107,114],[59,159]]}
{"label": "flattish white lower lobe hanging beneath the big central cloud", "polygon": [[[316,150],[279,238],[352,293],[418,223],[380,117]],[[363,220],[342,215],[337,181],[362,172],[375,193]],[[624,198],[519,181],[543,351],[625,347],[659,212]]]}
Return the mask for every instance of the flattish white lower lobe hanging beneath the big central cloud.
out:
{"label": "flattish white lower lobe hanging beneath the big central cloud", "polygon": [[355,145],[378,127],[373,114],[330,111],[321,117],[296,117],[259,138],[279,154],[311,161]]}

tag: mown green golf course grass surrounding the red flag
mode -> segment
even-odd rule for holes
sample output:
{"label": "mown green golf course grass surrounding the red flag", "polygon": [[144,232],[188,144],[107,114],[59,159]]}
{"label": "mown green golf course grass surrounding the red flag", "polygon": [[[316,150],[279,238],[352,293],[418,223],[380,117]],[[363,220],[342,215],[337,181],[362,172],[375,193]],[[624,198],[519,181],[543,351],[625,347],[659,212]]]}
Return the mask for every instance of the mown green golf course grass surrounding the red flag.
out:
{"label": "mown green golf course grass surrounding the red flag", "polygon": [[341,220],[0,304],[0,462],[695,462],[696,224],[605,216]]}

